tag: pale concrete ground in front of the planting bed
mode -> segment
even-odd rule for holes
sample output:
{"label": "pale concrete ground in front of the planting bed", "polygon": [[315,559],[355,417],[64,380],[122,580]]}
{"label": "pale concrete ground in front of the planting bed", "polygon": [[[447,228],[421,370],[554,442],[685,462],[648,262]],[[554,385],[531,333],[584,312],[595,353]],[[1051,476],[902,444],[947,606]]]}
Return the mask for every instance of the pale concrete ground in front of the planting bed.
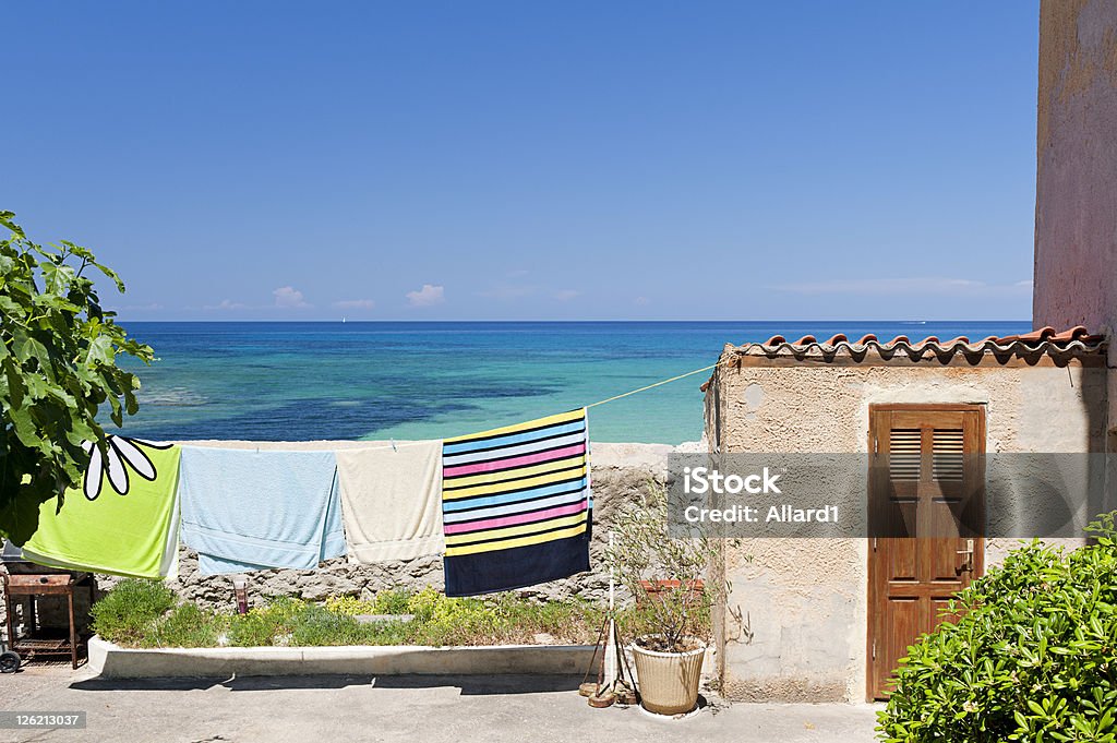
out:
{"label": "pale concrete ground in front of the planting bed", "polygon": [[581,678],[300,676],[111,680],[31,664],[0,676],[0,711],[84,711],[85,730],[0,730],[0,741],[872,741],[868,705],[726,704],[681,721],[593,709]]}

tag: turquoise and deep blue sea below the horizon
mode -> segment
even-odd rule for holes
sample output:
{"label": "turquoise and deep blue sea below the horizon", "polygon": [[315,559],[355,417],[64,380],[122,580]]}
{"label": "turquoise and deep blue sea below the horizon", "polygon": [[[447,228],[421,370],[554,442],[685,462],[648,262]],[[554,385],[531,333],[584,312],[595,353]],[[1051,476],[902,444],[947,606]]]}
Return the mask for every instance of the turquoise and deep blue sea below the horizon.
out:
{"label": "turquoise and deep blue sea below the horizon", "polygon": [[[125,323],[151,439],[446,438],[589,404],[713,364],[725,343],[1025,332],[1005,322]],[[697,374],[590,411],[598,441],[697,440]]]}

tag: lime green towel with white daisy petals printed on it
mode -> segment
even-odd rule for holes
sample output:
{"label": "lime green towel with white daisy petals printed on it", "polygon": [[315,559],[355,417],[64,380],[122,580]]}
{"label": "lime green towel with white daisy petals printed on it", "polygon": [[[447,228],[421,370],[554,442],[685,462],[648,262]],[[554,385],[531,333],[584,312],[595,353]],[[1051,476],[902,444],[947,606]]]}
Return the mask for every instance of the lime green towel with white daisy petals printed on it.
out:
{"label": "lime green towel with white daisy petals printed on it", "polygon": [[178,446],[109,436],[90,451],[80,488],[39,508],[23,556],[51,568],[174,578],[179,546]]}

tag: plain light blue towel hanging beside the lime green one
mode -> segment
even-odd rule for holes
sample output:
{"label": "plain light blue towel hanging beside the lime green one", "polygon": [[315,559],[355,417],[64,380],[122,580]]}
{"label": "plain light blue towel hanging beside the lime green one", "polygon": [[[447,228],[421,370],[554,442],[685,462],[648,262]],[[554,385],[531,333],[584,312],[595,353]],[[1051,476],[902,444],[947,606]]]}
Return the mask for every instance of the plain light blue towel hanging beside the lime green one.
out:
{"label": "plain light blue towel hanging beside the lime green one", "polygon": [[311,570],[345,554],[333,451],[182,447],[182,542],[202,574]]}

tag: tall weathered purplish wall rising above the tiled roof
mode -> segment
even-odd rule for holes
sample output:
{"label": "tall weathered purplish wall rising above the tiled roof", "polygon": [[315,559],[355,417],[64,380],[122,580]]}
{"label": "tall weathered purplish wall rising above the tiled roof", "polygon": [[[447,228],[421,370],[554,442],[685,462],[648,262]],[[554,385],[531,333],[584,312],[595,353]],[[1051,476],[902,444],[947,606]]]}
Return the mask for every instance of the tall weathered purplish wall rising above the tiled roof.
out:
{"label": "tall weathered purplish wall rising above the tiled roof", "polygon": [[[1035,181],[1037,327],[1117,330],[1117,2],[1042,0]],[[1109,366],[1117,369],[1117,344]],[[1117,372],[1109,375],[1117,451]]]}

